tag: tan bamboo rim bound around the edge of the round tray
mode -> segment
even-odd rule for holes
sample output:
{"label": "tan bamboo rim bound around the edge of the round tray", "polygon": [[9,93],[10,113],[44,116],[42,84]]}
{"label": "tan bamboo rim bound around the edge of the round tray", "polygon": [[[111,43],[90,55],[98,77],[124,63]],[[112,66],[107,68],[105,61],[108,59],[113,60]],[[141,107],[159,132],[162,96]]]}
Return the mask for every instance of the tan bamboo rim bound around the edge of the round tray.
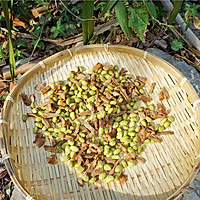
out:
{"label": "tan bamboo rim bound around the edge of the round tray", "polygon": [[[7,144],[6,144],[6,133],[4,131],[5,126],[7,126],[4,122],[7,120],[7,113],[6,111],[10,110],[12,106],[12,99],[15,99],[16,94],[22,89],[21,86],[25,83],[25,78],[26,76],[31,77],[31,74],[35,74],[38,70],[44,70],[46,66],[52,65],[53,63],[56,63],[57,61],[61,61],[63,59],[70,59],[70,57],[73,57],[74,55],[85,53],[85,52],[96,52],[97,50],[99,51],[118,51],[119,53],[132,53],[134,52],[134,56],[143,58],[145,60],[150,60],[151,63],[156,64],[157,61],[160,62],[159,65],[168,65],[172,71],[175,71],[177,75],[179,76],[179,79],[182,80],[184,76],[181,74],[179,70],[177,70],[173,65],[168,63],[167,61],[163,60],[162,58],[159,58],[158,56],[155,56],[149,52],[134,48],[134,47],[128,47],[124,45],[102,45],[102,44],[94,44],[94,45],[85,45],[85,46],[79,46],[79,47],[74,47],[71,49],[67,49],[61,52],[58,52],[43,61],[40,61],[38,64],[36,64],[33,68],[28,70],[18,81],[16,86],[13,88],[11,93],[9,94],[9,98],[6,99],[2,112],[1,112],[1,124],[0,124],[0,150],[2,152],[3,158],[5,158],[4,162],[6,165],[6,168],[8,170],[8,173],[11,177],[11,180],[15,184],[15,186],[19,189],[19,191],[22,193],[22,195],[26,199],[31,199],[32,197],[29,195],[29,193],[22,187],[22,185],[19,183],[18,179],[15,177],[13,173],[13,161],[12,161],[12,156],[9,155],[8,149],[7,149]],[[195,89],[191,85],[189,81],[187,81],[185,84],[190,88],[190,91],[187,91],[192,95],[192,104],[196,101],[199,100],[199,96],[196,93]],[[197,104],[195,109],[197,109],[200,112],[200,104]],[[200,119],[198,119],[198,122],[200,122]],[[187,180],[185,181],[184,184],[181,185],[181,187],[168,199],[176,199],[178,198],[183,192],[187,189],[189,184],[192,182],[192,180],[195,178],[196,174],[198,173],[200,169],[200,154],[196,157],[196,165],[193,167],[192,173],[189,175]]]}

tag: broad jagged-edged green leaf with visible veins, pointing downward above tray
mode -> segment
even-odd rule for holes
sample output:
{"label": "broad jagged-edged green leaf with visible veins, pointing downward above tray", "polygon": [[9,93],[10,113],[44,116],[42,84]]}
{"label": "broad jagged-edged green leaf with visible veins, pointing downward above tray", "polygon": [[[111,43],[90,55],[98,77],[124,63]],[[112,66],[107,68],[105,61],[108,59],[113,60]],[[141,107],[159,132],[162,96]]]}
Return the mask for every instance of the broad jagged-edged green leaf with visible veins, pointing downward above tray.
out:
{"label": "broad jagged-edged green leaf with visible veins, pointing downward above tray", "polygon": [[129,26],[133,27],[135,33],[138,34],[142,42],[145,42],[144,32],[149,24],[149,15],[144,5],[131,8],[131,16],[129,18]]}

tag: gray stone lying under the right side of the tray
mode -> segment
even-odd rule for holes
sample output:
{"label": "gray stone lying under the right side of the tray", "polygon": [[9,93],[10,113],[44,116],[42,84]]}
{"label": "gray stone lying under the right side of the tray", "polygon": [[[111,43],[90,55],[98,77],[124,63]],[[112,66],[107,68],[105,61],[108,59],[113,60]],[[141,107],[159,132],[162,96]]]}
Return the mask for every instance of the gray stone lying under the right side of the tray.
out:
{"label": "gray stone lying under the right side of the tray", "polygon": [[[194,67],[188,65],[184,61],[175,60],[172,56],[159,49],[149,48],[147,51],[168,61],[176,67],[190,81],[197,91],[197,94],[200,95],[200,74]],[[200,200],[200,172],[179,200]]]}

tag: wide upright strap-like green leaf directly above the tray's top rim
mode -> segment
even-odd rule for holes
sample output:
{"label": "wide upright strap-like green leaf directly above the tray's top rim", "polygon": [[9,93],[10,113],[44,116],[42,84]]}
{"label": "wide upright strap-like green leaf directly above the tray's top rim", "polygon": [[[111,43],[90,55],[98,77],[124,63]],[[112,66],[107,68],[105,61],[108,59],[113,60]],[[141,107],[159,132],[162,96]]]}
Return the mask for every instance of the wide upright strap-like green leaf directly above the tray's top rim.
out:
{"label": "wide upright strap-like green leaf directly above the tray's top rim", "polygon": [[[94,20],[92,16],[94,15],[94,0],[83,0],[83,43],[87,44],[88,41],[92,38],[94,32]],[[91,20],[90,20],[91,19]]]}

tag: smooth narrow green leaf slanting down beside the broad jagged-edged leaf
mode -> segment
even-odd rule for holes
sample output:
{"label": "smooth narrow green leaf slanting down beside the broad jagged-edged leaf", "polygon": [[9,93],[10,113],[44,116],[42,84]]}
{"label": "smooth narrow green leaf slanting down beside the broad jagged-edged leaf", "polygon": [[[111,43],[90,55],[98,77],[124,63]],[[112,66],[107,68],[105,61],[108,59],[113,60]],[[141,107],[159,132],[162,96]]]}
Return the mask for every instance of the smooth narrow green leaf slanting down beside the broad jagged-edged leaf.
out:
{"label": "smooth narrow green leaf slanting down beside the broad jagged-edged leaf", "polygon": [[128,26],[128,15],[126,13],[126,8],[121,0],[117,2],[114,7],[115,14],[121,29],[123,30],[126,37],[133,35],[132,29]]}

